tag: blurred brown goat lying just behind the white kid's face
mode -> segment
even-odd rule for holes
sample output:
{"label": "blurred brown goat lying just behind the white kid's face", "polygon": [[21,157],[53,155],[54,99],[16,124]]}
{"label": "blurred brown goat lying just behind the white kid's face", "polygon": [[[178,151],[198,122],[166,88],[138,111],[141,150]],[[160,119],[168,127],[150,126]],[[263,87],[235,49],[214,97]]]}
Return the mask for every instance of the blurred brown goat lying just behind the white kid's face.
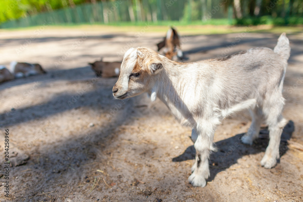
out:
{"label": "blurred brown goat lying just behind the white kid's face", "polygon": [[120,75],[120,67],[122,62],[103,62],[95,61],[94,63],[88,63],[92,65],[92,69],[97,76],[104,78],[118,77]]}

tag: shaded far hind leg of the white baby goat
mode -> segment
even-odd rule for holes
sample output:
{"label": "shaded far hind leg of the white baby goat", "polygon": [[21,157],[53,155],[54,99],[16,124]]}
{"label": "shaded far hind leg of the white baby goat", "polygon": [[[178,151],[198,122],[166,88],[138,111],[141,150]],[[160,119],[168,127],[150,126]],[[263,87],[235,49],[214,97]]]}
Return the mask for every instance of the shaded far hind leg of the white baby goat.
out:
{"label": "shaded far hind leg of the white baby goat", "polygon": [[259,137],[260,126],[263,122],[263,113],[258,107],[250,110],[250,113],[252,118],[251,125],[247,133],[241,137],[241,141],[244,144],[252,145],[253,141]]}

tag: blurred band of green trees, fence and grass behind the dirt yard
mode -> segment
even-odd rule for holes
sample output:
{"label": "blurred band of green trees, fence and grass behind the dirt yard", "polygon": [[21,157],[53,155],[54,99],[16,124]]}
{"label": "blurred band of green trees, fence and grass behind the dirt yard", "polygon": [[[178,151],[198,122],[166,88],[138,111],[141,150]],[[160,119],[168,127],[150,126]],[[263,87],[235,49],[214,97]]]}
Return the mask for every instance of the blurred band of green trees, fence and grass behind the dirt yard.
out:
{"label": "blurred band of green trees, fence and grass behind the dirt yard", "polygon": [[0,0],[1,28],[45,21],[54,25],[199,20],[221,24],[212,20],[218,18],[229,18],[227,24],[234,25],[303,24],[303,0]]}

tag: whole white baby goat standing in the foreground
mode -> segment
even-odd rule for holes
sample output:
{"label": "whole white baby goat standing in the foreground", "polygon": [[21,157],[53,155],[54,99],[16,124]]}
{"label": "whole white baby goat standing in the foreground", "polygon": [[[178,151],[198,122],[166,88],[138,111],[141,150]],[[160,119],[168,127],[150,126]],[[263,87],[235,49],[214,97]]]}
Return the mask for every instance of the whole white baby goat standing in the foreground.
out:
{"label": "whole white baby goat standing in the foreground", "polygon": [[191,63],[171,61],[148,48],[130,48],[113,95],[124,99],[148,92],[151,101],[160,98],[182,124],[192,127],[196,158],[188,180],[193,186],[204,187],[210,176],[209,154],[215,150],[215,129],[236,111],[249,108],[252,112],[251,126],[242,137],[245,144],[258,137],[263,121],[268,125],[270,141],[261,165],[276,165],[287,123],[281,111],[289,55],[285,33],[274,50],[251,48],[225,58]]}

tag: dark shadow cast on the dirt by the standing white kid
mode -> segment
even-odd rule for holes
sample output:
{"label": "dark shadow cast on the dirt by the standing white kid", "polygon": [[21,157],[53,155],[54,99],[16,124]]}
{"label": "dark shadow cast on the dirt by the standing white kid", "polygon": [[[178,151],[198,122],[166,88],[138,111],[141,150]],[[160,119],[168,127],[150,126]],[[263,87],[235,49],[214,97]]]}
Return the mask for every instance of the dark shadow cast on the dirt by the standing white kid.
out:
{"label": "dark shadow cast on the dirt by the standing white kid", "polygon": [[[262,128],[261,128],[262,129]],[[288,150],[287,140],[290,140],[293,131],[295,130],[294,122],[288,121],[286,126],[283,129],[280,142],[280,157],[283,156]],[[210,167],[210,177],[208,181],[212,181],[215,176],[229,168],[231,165],[236,164],[238,159],[244,155],[248,154],[258,154],[260,152],[265,152],[266,147],[268,146],[268,129],[265,128],[260,131],[260,137],[257,138],[253,145],[243,144],[241,142],[241,137],[244,135],[237,134],[233,137],[227,138],[216,142],[216,147],[218,148],[217,152],[213,152],[210,155],[209,167]],[[173,162],[180,162],[195,159],[195,147],[194,145],[189,146],[183,154],[172,159]],[[261,161],[261,159],[260,159]],[[278,160],[279,163],[279,160]]]}

